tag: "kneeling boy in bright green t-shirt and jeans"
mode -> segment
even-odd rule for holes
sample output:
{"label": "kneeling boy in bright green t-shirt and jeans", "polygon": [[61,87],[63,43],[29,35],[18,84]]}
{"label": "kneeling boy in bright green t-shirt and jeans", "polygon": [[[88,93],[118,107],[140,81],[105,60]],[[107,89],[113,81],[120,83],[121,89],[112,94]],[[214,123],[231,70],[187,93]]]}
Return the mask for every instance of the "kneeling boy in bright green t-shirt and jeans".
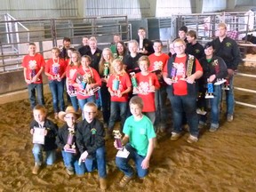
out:
{"label": "kneeling boy in bright green t-shirt and jeans", "polygon": [[[148,174],[149,160],[153,153],[153,140],[156,133],[152,122],[141,111],[143,101],[140,97],[134,96],[130,100],[132,116],[128,117],[124,123],[124,138],[122,145],[130,153],[126,158],[116,156],[116,166],[124,172],[124,177],[120,181],[120,187],[124,187],[134,176],[132,166],[128,164],[132,159],[140,178]],[[117,148],[116,141],[114,142]]]}

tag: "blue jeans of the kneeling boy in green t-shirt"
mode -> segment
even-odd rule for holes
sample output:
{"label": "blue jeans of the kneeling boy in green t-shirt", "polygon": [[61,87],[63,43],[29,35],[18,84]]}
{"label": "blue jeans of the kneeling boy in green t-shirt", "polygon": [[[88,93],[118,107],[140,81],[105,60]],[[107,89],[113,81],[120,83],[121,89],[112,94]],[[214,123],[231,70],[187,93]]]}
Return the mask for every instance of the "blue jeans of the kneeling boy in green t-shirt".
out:
{"label": "blue jeans of the kneeling boy in green t-shirt", "polygon": [[129,154],[129,156],[127,156],[127,158],[116,156],[116,166],[122,172],[124,172],[124,174],[126,176],[132,177],[132,175],[133,175],[132,166],[130,164],[128,164],[130,159],[132,159],[135,163],[135,166],[136,166],[136,169],[137,169],[137,172],[138,172],[138,176],[140,178],[145,177],[148,174],[148,169],[142,169],[141,163],[145,159],[146,156],[140,156],[137,153],[136,149],[132,148],[130,143],[127,143],[125,145],[125,148],[130,152],[130,154]]}

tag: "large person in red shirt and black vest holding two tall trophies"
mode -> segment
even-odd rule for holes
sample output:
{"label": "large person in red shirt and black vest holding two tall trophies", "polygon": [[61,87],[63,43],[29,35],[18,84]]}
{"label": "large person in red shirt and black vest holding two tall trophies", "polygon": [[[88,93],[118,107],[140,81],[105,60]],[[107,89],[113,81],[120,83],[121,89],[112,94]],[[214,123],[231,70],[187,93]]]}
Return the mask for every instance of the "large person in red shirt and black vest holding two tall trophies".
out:
{"label": "large person in red shirt and black vest holding two tall trophies", "polygon": [[167,85],[168,97],[172,104],[173,131],[171,140],[182,136],[182,118],[185,112],[190,135],[188,143],[198,140],[198,116],[196,114],[196,79],[203,75],[203,68],[192,55],[185,53],[186,43],[182,39],[174,42],[175,54],[168,60],[163,76]]}

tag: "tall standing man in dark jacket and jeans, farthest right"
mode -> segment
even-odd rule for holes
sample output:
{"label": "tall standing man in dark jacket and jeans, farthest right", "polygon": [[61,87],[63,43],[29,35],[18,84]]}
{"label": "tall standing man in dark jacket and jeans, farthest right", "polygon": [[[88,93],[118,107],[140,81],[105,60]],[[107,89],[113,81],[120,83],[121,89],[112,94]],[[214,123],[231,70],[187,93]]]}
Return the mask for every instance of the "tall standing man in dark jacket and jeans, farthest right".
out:
{"label": "tall standing man in dark jacket and jeans, farthest right", "polygon": [[239,62],[241,61],[241,54],[236,44],[236,41],[227,36],[227,26],[225,23],[218,25],[218,38],[212,41],[213,47],[215,47],[215,55],[221,57],[227,65],[229,83],[229,90],[226,90],[226,105],[227,105],[227,121],[232,122],[234,117],[234,87],[233,76],[237,69]]}

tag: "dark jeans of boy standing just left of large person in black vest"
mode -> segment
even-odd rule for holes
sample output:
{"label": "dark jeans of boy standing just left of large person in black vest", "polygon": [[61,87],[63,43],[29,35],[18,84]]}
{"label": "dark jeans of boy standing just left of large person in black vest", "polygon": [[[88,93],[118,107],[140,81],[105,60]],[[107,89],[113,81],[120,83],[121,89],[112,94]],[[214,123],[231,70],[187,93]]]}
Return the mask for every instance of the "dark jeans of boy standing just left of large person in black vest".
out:
{"label": "dark jeans of boy standing just left of large person in black vest", "polygon": [[167,109],[166,109],[167,92],[166,87],[160,87],[159,90],[155,92],[155,105],[156,105],[156,126],[166,125],[167,119]]}

